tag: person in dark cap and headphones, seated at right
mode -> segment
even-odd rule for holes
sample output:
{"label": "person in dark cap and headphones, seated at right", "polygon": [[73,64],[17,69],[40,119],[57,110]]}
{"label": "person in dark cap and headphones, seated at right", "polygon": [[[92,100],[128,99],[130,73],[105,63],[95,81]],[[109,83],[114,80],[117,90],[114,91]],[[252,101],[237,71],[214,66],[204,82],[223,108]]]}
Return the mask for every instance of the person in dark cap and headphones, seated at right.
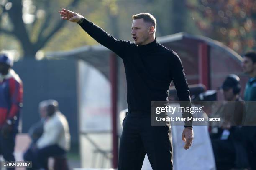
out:
{"label": "person in dark cap and headphones, seated at right", "polygon": [[225,102],[218,108],[215,117],[220,117],[220,125],[212,127],[210,137],[217,170],[246,168],[248,160],[241,139],[241,125],[245,114],[244,102],[239,96],[241,85],[237,75],[228,75],[220,87]]}

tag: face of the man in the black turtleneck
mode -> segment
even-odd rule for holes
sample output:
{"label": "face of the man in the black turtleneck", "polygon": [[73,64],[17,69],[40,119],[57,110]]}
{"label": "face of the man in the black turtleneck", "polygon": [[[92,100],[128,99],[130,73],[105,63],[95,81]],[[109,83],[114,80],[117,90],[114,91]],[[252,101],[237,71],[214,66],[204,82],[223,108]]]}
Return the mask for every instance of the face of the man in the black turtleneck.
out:
{"label": "face of the man in the black turtleneck", "polygon": [[153,36],[154,27],[145,23],[143,18],[133,20],[131,35],[136,45],[145,45]]}

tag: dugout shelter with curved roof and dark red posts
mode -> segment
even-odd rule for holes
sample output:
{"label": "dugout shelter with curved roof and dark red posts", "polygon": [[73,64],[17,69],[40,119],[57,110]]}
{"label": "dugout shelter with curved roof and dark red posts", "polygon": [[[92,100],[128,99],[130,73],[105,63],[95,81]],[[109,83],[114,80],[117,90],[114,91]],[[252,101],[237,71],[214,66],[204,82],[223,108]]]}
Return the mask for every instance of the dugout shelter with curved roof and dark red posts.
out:
{"label": "dugout shelter with curved roof and dark red posts", "polygon": [[[189,84],[201,83],[205,85],[207,90],[216,90],[228,74],[236,74],[241,78],[241,92],[243,93],[247,77],[242,73],[242,57],[221,42],[203,36],[189,35],[187,33],[157,37],[157,41],[170,50],[177,52],[182,60],[184,72]],[[100,154],[102,157],[99,163],[97,163],[95,158],[90,158],[92,159],[91,161],[83,160],[85,158],[82,154],[81,162],[87,164],[87,161],[96,161],[96,163],[89,165],[91,168],[116,168],[118,137],[120,135],[120,123],[118,122],[117,116],[121,110],[127,108],[126,80],[122,60],[102,45],[79,47],[68,52],[51,52],[47,54],[47,57],[55,59],[74,58],[78,61],[77,93],[79,97],[77,101],[81,148],[83,150],[83,148],[93,147],[94,149],[92,149],[91,155],[95,157],[97,154]],[[108,100],[108,102],[102,102],[104,103],[102,104],[103,107],[95,108],[95,110],[87,110],[85,108],[90,107],[93,103],[86,105],[86,102],[90,100],[84,100],[83,97],[84,95],[86,96],[88,92],[88,90],[85,89],[87,86],[84,85],[84,83],[87,83],[84,77],[90,75],[88,73],[88,67],[95,70],[97,76],[100,76],[99,79],[102,79],[102,82],[95,81],[96,84],[102,84],[102,86],[95,84],[95,88],[91,88],[93,94],[96,95],[97,93],[107,91],[104,97],[98,97],[99,100],[95,100],[94,102],[96,102],[95,107],[101,107],[101,105],[97,105],[98,101]],[[92,77],[95,78],[97,76]],[[221,95],[218,95],[218,99],[222,99]],[[95,114],[103,116],[104,118],[97,120],[96,116],[93,117]],[[91,121],[87,122],[84,119]],[[95,121],[93,121],[93,119],[95,119]],[[86,123],[91,124],[91,127],[88,128],[86,125],[84,127]],[[108,135],[106,136],[106,134]],[[101,147],[103,138],[105,138],[105,143],[108,145],[105,148]],[[86,155],[88,155],[88,153]],[[104,161],[106,161],[106,163],[102,164]]]}

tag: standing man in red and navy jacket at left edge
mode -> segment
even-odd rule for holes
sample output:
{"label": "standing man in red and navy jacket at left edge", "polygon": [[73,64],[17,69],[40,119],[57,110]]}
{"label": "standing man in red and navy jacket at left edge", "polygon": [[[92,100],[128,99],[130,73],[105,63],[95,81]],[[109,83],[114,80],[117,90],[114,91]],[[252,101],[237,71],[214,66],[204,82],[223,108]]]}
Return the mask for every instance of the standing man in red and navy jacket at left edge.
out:
{"label": "standing man in red and navy jacket at left edge", "polygon": [[0,155],[5,161],[15,161],[13,151],[23,99],[22,81],[12,66],[13,61],[0,54]]}

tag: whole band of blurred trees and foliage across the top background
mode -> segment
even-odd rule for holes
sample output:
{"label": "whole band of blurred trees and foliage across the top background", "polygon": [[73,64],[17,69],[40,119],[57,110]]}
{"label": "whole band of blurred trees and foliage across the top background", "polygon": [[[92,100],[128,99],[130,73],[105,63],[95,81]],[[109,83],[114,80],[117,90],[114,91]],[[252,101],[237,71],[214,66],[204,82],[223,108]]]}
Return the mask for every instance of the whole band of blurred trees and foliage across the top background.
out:
{"label": "whole band of blurred trees and foliage across the top background", "polygon": [[125,40],[131,40],[132,15],[148,12],[157,19],[158,37],[188,32],[240,54],[256,50],[254,0],[0,0],[0,48],[35,57],[38,51],[97,44],[79,25],[60,19],[62,7]]}

